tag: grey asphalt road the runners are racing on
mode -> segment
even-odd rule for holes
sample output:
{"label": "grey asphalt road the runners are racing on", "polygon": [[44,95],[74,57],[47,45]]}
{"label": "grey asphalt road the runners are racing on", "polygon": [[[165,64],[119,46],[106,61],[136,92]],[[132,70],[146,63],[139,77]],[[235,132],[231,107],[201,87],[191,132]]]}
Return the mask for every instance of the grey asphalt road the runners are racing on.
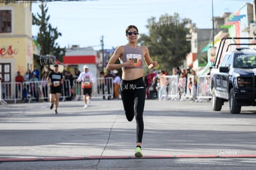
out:
{"label": "grey asphalt road the runners are racing on", "polygon": [[146,100],[143,158],[121,100],[0,105],[0,169],[255,169],[256,108]]}

